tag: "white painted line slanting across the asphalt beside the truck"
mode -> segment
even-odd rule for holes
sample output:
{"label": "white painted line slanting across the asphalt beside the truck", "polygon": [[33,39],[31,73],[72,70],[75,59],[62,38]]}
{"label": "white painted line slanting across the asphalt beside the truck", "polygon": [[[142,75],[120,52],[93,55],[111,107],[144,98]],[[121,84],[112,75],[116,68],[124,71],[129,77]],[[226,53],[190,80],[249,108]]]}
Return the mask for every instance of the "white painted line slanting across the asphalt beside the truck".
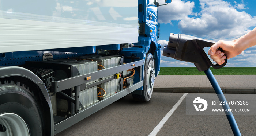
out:
{"label": "white painted line slanting across the asphalt beside the truck", "polygon": [[173,108],[163,117],[163,119],[158,123],[158,125],[153,129],[153,131],[148,136],[155,136],[160,131],[160,129],[163,127],[165,122],[171,117],[173,112],[178,108],[178,106],[181,104],[181,102],[184,100],[184,98],[187,96],[188,93],[184,93],[183,96],[178,100],[178,102],[173,106]]}

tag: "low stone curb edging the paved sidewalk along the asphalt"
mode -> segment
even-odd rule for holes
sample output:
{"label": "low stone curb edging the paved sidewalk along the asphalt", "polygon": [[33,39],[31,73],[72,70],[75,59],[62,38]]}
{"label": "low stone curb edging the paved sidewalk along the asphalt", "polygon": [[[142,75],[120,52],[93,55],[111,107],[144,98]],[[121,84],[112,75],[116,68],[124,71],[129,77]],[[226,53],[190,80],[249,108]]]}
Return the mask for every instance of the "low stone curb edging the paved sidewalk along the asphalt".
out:
{"label": "low stone curb edging the paved sidewalk along the asphalt", "polygon": [[[256,94],[256,88],[221,88],[223,93]],[[153,92],[167,93],[215,93],[213,88],[155,87]]]}

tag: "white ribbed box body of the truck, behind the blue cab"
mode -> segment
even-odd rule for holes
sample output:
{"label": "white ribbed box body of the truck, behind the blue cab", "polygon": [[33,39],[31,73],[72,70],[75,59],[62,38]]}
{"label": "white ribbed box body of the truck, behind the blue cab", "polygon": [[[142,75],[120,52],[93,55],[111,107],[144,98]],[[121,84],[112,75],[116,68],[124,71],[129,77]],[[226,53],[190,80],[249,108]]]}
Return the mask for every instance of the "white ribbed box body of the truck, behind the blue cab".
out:
{"label": "white ribbed box body of the truck, behind the blue cab", "polygon": [[0,53],[134,43],[138,0],[0,0]]}

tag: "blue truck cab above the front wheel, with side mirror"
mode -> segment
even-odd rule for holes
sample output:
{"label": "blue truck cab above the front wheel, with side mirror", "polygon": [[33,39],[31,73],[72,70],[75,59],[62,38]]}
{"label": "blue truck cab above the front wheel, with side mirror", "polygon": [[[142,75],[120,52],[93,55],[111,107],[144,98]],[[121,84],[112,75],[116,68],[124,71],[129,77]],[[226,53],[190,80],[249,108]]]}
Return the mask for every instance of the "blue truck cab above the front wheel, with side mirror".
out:
{"label": "blue truck cab above the front wheel, with side mirror", "polygon": [[[171,0],[167,0],[165,2],[170,3]],[[157,0],[138,0],[138,42],[133,43],[134,48],[123,48],[121,51],[121,54],[129,56],[129,58],[134,58],[135,60],[142,58],[145,60],[147,55],[152,55],[154,59],[155,77],[160,72],[161,61],[161,45],[157,43],[157,39],[160,37],[158,6],[161,5],[159,5]],[[144,70],[144,67],[145,65],[142,70]],[[142,77],[142,80],[144,80],[144,77]],[[151,80],[151,78],[148,80]],[[143,91],[143,88],[138,90]],[[138,91],[133,93],[138,93]],[[141,92],[139,92],[139,94],[141,94]]]}

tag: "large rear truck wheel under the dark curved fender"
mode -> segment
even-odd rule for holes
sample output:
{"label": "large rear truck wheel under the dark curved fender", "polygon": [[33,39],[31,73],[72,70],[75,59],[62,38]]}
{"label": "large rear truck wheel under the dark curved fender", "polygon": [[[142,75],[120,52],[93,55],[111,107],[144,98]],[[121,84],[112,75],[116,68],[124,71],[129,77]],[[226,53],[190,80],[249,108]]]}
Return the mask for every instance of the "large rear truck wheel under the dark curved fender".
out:
{"label": "large rear truck wheel under the dark curved fender", "polygon": [[33,92],[19,82],[0,82],[0,135],[43,136],[43,123]]}

